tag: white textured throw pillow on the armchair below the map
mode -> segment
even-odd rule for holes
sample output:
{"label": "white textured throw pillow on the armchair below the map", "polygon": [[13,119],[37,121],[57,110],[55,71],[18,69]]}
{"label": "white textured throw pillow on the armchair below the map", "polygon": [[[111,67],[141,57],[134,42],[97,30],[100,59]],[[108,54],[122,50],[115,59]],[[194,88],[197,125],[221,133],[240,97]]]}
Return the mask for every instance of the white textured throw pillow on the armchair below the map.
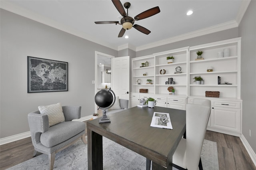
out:
{"label": "white textured throw pillow on the armchair below the map", "polygon": [[65,121],[64,113],[60,103],[48,106],[38,106],[41,114],[48,115],[49,127]]}

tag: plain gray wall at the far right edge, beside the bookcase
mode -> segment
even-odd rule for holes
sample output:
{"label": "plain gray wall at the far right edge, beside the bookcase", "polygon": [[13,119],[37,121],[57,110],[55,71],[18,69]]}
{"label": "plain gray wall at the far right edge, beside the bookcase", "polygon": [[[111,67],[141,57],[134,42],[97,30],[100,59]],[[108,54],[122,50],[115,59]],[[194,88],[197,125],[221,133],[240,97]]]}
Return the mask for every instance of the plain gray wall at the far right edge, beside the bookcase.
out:
{"label": "plain gray wall at the far right edge, beside the bookcase", "polygon": [[[242,134],[256,153],[256,1],[252,0],[239,25],[241,43]],[[251,130],[251,137],[249,136]]]}

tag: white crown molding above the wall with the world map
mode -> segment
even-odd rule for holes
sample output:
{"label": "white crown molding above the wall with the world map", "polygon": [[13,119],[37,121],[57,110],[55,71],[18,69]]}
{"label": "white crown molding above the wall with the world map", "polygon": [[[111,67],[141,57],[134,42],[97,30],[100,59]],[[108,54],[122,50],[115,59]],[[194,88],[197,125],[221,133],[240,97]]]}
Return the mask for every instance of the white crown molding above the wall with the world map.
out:
{"label": "white crown molding above the wall with the world map", "polygon": [[103,42],[102,40],[98,40],[98,39],[96,39],[96,38],[94,38],[94,37],[92,37],[92,36],[90,36],[88,34],[84,34],[83,32],[80,32],[78,30],[74,30],[74,29],[72,29],[69,26],[66,26],[64,24],[60,24],[59,22],[56,22],[55,20],[52,20],[50,18],[45,18],[45,17],[43,17],[41,15],[38,15],[38,14],[36,14],[34,12],[31,12],[29,10],[26,10],[24,8],[16,6],[16,5],[14,5],[14,4],[10,3],[10,2],[1,1],[0,7],[2,9],[4,9],[4,10],[10,11],[10,12],[12,12],[14,14],[18,14],[20,16],[24,16],[24,17],[29,18],[31,20],[40,22],[40,23],[45,24],[47,26],[56,28],[56,29],[64,31],[64,32],[67,32],[69,34],[72,34],[74,36],[78,36],[78,37],[86,39],[88,41],[91,41],[91,42],[94,42],[94,43],[98,43],[100,45],[104,45],[105,47],[109,47],[111,49],[118,50],[118,48],[116,46],[110,45],[110,43]]}

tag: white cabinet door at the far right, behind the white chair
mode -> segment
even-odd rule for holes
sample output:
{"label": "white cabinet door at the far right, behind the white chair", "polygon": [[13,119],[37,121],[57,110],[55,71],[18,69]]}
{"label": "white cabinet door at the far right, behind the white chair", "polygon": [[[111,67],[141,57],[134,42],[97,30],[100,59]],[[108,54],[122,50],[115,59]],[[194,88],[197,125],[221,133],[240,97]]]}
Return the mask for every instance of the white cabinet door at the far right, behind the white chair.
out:
{"label": "white cabinet door at the far right, behind the white chair", "polygon": [[214,107],[211,114],[211,127],[233,132],[241,131],[241,111],[239,109]]}

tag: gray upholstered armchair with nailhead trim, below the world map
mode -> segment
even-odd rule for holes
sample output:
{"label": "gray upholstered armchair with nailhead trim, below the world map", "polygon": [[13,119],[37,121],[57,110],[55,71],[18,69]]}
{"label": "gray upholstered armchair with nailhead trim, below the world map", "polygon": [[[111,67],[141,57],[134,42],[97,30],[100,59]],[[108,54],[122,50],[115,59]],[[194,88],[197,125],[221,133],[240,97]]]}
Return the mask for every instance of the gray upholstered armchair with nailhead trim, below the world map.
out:
{"label": "gray upholstered armchair with nailhead trim, below the world map", "polygon": [[65,121],[49,127],[48,115],[40,114],[40,111],[34,111],[28,114],[28,123],[34,146],[34,155],[37,152],[48,154],[49,168],[53,169],[55,154],[71,144],[74,144],[80,138],[86,144],[84,122],[72,121],[80,119],[80,106],[62,107]]}

